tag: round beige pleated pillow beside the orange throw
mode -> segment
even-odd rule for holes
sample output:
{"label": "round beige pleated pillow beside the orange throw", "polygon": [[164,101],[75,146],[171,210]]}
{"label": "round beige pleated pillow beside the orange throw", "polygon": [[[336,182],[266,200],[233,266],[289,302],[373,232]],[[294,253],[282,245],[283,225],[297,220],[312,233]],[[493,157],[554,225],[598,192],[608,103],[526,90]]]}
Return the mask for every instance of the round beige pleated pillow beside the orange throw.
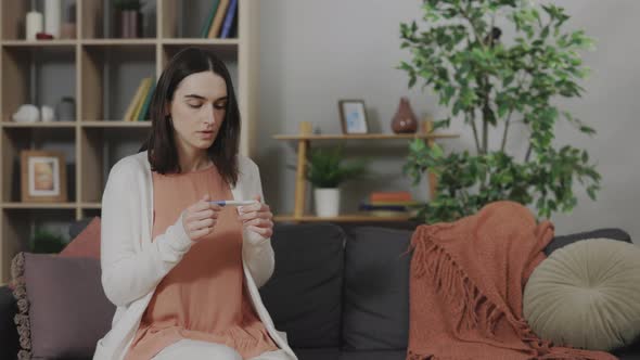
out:
{"label": "round beige pleated pillow beside the orange throw", "polygon": [[591,239],[542,261],[524,292],[532,330],[556,345],[604,350],[640,335],[640,247]]}

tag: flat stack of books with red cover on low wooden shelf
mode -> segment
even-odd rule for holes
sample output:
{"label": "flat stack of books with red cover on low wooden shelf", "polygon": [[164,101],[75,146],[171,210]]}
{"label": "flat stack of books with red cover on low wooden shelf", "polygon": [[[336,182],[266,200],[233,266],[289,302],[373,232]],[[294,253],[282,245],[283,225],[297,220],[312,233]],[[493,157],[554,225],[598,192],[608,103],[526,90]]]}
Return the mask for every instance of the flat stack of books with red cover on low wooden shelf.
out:
{"label": "flat stack of books with red cover on low wooden shelf", "polygon": [[360,211],[380,217],[413,216],[417,207],[421,205],[407,191],[372,192],[369,198],[360,204]]}

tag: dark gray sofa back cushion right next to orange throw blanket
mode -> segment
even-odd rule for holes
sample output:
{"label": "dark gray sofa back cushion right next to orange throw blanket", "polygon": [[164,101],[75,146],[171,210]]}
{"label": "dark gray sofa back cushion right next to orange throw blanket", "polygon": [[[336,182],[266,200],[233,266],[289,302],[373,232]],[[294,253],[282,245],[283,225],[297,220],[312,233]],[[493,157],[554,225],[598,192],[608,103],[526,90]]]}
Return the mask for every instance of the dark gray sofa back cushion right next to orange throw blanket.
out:
{"label": "dark gray sofa back cushion right next to orange throw blanket", "polygon": [[411,231],[377,227],[348,231],[343,348],[405,350],[409,334]]}

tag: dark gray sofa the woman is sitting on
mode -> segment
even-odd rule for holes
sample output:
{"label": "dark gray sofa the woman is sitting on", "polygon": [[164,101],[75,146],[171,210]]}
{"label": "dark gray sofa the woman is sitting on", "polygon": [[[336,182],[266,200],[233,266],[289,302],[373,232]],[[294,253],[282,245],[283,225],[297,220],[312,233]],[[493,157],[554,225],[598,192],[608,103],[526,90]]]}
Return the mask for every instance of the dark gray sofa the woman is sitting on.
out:
{"label": "dark gray sofa the woman is sitting on", "polygon": [[[412,231],[332,223],[278,224],[276,271],[260,288],[300,360],[401,360],[409,324]],[[556,236],[545,252],[589,237],[630,241],[617,229]],[[16,304],[0,287],[0,359],[15,359]],[[640,360],[640,342],[614,352]]]}

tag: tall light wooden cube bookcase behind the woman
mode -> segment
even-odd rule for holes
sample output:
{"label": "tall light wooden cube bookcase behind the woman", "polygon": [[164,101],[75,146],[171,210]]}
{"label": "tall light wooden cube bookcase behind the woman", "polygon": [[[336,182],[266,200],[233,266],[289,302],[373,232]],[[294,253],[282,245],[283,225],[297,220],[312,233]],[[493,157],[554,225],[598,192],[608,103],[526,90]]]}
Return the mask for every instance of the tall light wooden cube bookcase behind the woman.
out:
{"label": "tall light wooden cube bookcase behind the woman", "polygon": [[[43,1],[36,10],[43,12]],[[123,121],[141,79],[159,78],[174,54],[196,46],[214,51],[231,73],[243,119],[241,153],[254,152],[259,40],[258,0],[239,0],[235,36],[200,38],[208,0],[142,1],[140,38],[115,38],[110,0],[63,0],[75,5],[76,37],[25,40],[30,0],[0,0],[0,283],[10,279],[13,256],[26,249],[37,227],[66,227],[100,215],[111,167],[137,152],[149,121]],[[64,13],[64,11],[63,11]],[[72,121],[14,123],[21,104],[55,107],[75,100]],[[55,150],[65,155],[67,201],[22,203],[20,153]],[[64,231],[62,230],[64,229]]]}

